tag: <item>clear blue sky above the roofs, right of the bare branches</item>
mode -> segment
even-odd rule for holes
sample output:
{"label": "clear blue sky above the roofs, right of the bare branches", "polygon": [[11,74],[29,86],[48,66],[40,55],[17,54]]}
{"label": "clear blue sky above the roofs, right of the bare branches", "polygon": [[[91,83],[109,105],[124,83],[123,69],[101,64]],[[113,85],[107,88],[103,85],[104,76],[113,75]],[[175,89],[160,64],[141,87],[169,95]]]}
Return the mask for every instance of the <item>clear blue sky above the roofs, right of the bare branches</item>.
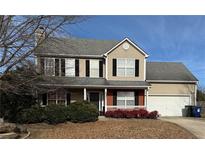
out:
{"label": "clear blue sky above the roofs, right of the bare branches", "polygon": [[67,30],[76,38],[128,37],[148,61],[183,62],[205,87],[205,16],[89,16]]}

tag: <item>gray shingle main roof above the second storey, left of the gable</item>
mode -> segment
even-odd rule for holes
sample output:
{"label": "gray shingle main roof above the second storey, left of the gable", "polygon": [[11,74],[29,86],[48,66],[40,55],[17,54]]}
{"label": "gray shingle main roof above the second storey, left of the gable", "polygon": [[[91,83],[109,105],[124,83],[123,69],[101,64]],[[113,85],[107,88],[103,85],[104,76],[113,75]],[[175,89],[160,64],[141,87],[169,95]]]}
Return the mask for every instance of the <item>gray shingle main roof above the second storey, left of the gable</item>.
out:
{"label": "gray shingle main roof above the second storey, left of the gable", "polygon": [[98,56],[105,54],[118,41],[49,38],[35,51],[36,55]]}

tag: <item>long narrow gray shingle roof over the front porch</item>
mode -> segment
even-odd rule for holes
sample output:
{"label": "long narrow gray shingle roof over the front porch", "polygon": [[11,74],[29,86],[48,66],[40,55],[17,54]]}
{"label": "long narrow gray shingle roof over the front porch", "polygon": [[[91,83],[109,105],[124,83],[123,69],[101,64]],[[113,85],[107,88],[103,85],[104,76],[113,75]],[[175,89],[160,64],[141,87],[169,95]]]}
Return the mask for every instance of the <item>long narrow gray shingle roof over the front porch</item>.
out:
{"label": "long narrow gray shingle roof over the front porch", "polygon": [[38,82],[39,85],[66,86],[66,87],[147,87],[149,83],[145,81],[112,81],[104,78],[89,77],[45,77]]}

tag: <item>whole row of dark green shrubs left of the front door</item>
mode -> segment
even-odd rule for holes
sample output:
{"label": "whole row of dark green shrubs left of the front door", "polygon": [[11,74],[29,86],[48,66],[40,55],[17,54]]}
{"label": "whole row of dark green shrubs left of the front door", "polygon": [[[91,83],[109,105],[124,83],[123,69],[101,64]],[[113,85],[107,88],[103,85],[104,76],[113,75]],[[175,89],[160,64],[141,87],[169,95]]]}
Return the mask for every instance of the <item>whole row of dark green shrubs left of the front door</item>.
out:
{"label": "whole row of dark green shrubs left of the front door", "polygon": [[98,119],[98,109],[88,102],[76,102],[69,106],[51,105],[47,107],[32,106],[17,114],[17,123],[40,123],[49,124],[71,122],[90,122]]}

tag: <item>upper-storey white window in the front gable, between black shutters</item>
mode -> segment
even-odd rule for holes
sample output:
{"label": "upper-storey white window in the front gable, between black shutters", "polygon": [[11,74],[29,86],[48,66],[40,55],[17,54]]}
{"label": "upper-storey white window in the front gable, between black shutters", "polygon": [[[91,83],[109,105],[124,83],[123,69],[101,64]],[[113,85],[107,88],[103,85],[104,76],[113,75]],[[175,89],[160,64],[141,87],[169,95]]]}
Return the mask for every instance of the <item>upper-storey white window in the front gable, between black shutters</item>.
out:
{"label": "upper-storey white window in the front gable, between black shutters", "polygon": [[135,60],[126,58],[117,59],[117,76],[135,76]]}

